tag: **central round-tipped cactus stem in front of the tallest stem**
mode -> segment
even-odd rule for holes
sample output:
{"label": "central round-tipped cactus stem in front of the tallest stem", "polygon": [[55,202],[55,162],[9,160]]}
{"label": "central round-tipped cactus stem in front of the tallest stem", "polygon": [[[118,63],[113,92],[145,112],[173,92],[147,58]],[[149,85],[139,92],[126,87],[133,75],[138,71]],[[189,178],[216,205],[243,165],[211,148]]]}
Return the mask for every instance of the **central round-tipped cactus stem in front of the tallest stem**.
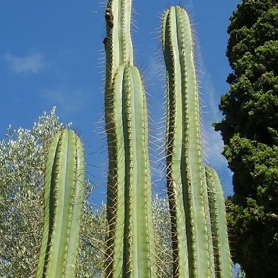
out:
{"label": "central round-tipped cactus stem in front of the tallest stem", "polygon": [[106,277],[156,277],[147,104],[138,69],[129,63],[120,65],[113,90],[122,95],[125,157],[121,158],[124,181],[117,183],[117,211],[108,209],[115,231],[108,241],[113,244],[113,252],[108,254],[112,261]]}

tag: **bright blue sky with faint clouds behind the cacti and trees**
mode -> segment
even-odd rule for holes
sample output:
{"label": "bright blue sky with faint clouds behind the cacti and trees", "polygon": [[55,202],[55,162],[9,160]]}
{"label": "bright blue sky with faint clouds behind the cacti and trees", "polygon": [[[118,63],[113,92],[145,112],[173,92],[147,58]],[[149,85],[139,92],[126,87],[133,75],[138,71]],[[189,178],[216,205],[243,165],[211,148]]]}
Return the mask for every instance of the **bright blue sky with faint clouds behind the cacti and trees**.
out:
{"label": "bright blue sky with faint clouds behind the cacti and trees", "polygon": [[[213,131],[211,124],[221,120],[220,95],[229,90],[226,78],[231,69],[225,57],[226,30],[238,2],[134,0],[133,4],[135,60],[145,79],[154,123],[163,117],[165,80],[159,73],[161,15],[170,4],[179,3],[191,15],[197,41],[204,152],[207,163],[220,174],[225,195],[232,194],[231,173],[220,154],[220,134]],[[105,3],[95,0],[10,0],[3,1],[0,9],[0,139],[8,124],[13,129],[19,126],[31,129],[43,111],[57,106],[60,121],[72,122],[85,143],[89,177],[92,183],[99,184],[93,195],[95,204],[105,201],[106,192],[107,155],[102,120],[104,10]],[[154,123],[150,125],[152,134],[158,136],[161,124]],[[157,169],[155,179],[159,179],[161,165],[153,167]]]}

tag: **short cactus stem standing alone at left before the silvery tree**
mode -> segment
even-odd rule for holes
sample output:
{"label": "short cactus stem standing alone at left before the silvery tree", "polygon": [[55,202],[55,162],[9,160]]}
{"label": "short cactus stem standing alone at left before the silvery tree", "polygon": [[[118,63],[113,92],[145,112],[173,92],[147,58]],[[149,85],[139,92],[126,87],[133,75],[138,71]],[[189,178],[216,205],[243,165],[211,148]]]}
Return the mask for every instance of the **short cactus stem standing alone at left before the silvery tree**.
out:
{"label": "short cactus stem standing alone at left before the silvery tree", "polygon": [[44,227],[37,278],[74,278],[84,195],[83,145],[74,131],[58,131],[44,174]]}

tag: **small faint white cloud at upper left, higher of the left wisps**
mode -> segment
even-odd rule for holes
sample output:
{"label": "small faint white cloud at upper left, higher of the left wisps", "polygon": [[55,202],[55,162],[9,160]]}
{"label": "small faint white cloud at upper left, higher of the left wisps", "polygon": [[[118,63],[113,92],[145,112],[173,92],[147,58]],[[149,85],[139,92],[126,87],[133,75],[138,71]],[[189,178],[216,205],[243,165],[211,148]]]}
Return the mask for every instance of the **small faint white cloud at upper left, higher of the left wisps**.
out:
{"label": "small faint white cloud at upper left, higher of the left wisps", "polygon": [[6,54],[4,58],[10,70],[15,73],[31,72],[36,74],[46,67],[44,56],[38,52],[23,57]]}

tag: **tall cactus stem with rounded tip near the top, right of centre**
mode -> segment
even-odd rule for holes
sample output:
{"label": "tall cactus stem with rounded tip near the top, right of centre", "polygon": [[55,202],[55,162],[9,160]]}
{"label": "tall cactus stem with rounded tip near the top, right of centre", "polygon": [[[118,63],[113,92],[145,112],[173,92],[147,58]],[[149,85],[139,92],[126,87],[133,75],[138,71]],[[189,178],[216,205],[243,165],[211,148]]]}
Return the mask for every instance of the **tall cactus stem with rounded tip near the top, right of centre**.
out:
{"label": "tall cactus stem with rounded tip near the top, right of centre", "polygon": [[[217,221],[210,220],[202,161],[193,34],[180,6],[169,8],[163,16],[162,44],[167,74],[166,165],[173,277],[215,277],[213,236],[217,232],[212,236],[211,227]],[[218,224],[227,229],[226,222]],[[224,248],[229,252],[229,246]],[[219,277],[231,277],[231,271],[226,273]]]}

